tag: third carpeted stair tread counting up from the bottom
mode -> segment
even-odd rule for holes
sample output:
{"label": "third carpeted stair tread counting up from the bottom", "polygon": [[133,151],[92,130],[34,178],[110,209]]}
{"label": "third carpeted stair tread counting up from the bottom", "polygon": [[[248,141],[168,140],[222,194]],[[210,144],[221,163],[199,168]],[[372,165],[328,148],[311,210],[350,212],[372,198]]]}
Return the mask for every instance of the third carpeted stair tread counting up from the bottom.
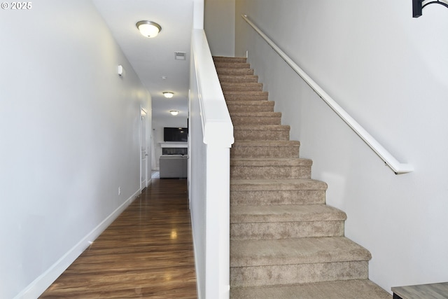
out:
{"label": "third carpeted stair tread counting up from the bottom", "polygon": [[343,211],[326,204],[235,206],[231,207],[230,216],[230,223],[345,220]]}

